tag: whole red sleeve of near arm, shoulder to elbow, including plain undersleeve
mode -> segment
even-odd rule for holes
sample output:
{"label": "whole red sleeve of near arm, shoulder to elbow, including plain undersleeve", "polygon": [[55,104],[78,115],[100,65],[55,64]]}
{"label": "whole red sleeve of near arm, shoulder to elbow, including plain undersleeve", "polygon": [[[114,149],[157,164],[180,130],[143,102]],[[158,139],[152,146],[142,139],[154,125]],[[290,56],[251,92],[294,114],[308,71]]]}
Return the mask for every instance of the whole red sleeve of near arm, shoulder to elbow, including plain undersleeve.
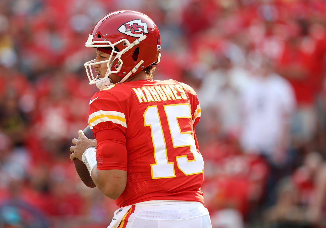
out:
{"label": "whole red sleeve of near arm, shoulder to elbow, including plain undersleeve", "polygon": [[127,168],[124,107],[109,91],[97,92],[90,101],[88,124],[97,140],[97,169]]}

